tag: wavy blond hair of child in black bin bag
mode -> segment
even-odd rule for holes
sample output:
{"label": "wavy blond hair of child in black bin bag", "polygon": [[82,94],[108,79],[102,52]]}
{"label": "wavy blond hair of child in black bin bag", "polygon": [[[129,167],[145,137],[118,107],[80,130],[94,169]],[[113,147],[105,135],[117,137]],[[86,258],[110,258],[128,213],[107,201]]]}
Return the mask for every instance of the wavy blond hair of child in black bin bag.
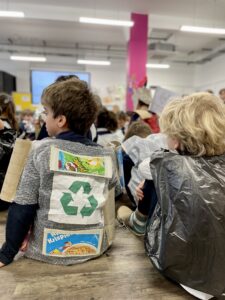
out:
{"label": "wavy blond hair of child in black bin bag", "polygon": [[174,99],[165,106],[159,122],[161,131],[177,139],[184,153],[225,153],[225,105],[214,95],[195,93]]}

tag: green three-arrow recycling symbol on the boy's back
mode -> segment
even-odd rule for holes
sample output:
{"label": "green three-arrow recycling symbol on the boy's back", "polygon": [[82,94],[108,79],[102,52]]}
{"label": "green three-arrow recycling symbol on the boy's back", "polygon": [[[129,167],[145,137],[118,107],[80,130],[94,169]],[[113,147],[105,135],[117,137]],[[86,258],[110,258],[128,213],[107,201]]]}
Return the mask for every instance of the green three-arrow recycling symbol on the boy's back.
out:
{"label": "green three-arrow recycling symbol on the boy's back", "polygon": [[[84,181],[74,181],[69,187],[69,190],[73,194],[77,194],[81,189],[83,189],[83,194],[89,195],[91,193],[91,185],[89,182]],[[98,201],[93,195],[87,197],[90,206],[83,206],[80,210],[82,217],[89,217],[93,214],[96,207],[98,206]],[[71,193],[63,193],[63,196],[60,198],[64,212],[69,216],[76,216],[78,214],[78,206],[70,206],[70,203],[73,202],[73,197]]]}

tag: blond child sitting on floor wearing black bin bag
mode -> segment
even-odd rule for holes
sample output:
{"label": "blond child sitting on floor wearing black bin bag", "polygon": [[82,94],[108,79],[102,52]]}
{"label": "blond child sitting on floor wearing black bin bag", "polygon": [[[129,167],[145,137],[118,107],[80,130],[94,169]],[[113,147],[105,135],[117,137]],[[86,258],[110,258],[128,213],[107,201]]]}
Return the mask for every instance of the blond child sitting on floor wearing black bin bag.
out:
{"label": "blond child sitting on floor wearing black bin bag", "polygon": [[200,299],[225,291],[224,120],[224,104],[208,93],[167,104],[160,128],[171,151],[139,166],[149,191],[139,186],[142,208],[122,217],[134,233],[146,231],[153,265]]}

